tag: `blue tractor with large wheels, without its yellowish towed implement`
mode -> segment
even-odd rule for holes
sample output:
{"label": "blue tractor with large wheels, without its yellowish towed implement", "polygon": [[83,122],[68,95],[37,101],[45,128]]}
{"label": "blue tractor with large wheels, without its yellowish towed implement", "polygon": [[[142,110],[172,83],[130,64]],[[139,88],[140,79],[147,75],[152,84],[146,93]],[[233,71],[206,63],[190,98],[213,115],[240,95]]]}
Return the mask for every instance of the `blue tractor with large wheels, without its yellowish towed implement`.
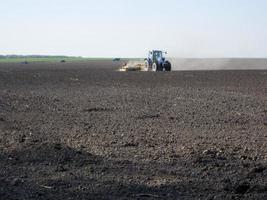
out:
{"label": "blue tractor with large wheels, without its yellowish towed implement", "polygon": [[171,63],[163,54],[167,53],[158,50],[149,51],[148,58],[145,59],[144,71],[171,71]]}

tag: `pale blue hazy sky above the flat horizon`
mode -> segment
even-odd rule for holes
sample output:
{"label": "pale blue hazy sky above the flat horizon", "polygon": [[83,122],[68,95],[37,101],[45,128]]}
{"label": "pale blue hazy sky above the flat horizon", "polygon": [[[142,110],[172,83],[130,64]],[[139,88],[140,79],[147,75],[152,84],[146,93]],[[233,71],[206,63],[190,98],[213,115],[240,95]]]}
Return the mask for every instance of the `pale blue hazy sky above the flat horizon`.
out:
{"label": "pale blue hazy sky above the flat horizon", "polygon": [[267,57],[266,0],[0,0],[0,54]]}

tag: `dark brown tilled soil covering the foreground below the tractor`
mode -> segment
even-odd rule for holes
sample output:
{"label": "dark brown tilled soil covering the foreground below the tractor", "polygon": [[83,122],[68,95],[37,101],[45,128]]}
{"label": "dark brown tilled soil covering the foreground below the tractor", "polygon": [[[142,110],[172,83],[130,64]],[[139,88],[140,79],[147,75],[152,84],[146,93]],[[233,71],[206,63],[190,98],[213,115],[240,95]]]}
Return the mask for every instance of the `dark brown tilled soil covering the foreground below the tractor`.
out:
{"label": "dark brown tilled soil covering the foreground below the tractor", "polygon": [[267,71],[0,64],[0,199],[266,199]]}

